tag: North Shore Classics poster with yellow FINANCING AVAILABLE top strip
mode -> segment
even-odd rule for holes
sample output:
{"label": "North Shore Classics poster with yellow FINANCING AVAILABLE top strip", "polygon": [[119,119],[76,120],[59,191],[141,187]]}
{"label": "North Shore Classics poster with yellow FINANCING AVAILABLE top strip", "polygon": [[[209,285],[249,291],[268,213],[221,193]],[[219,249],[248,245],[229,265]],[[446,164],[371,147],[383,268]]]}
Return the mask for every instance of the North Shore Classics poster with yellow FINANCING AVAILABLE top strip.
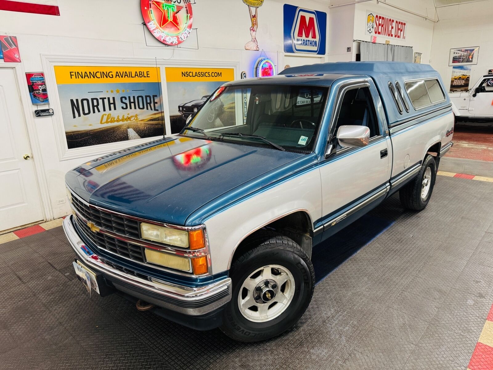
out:
{"label": "North Shore Classics poster with yellow FINANCING AVAILABLE top strip", "polygon": [[159,68],[54,69],[69,149],[164,135]]}

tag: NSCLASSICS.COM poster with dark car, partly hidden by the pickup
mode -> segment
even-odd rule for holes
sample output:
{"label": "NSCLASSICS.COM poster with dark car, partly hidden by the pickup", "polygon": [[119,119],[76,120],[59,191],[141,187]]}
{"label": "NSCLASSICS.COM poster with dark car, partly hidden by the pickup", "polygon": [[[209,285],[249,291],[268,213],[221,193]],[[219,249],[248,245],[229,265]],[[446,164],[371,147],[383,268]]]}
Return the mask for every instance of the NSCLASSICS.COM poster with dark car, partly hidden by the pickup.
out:
{"label": "NSCLASSICS.COM poster with dark car, partly hidden by the pickup", "polygon": [[[186,119],[198,111],[209,95],[233,79],[233,68],[166,67],[171,133],[180,132]],[[219,114],[215,112],[211,120],[216,120]]]}

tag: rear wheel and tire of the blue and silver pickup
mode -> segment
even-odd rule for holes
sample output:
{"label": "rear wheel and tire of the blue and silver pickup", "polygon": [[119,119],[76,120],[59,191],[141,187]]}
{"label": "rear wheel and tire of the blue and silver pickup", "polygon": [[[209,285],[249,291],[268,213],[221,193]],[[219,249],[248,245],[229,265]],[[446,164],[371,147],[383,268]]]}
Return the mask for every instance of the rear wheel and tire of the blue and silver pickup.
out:
{"label": "rear wheel and tire of the blue and silver pickup", "polygon": [[[421,211],[428,204],[436,179],[435,159],[426,155],[416,178],[399,190],[399,198],[404,208]],[[426,185],[425,185],[425,180]],[[423,189],[426,187],[425,195]]]}

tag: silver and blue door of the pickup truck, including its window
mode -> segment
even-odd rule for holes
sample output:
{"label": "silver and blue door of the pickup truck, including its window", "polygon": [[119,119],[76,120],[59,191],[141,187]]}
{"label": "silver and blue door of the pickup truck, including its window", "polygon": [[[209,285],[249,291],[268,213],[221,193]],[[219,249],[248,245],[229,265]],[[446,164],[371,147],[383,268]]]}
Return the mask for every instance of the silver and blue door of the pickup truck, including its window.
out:
{"label": "silver and blue door of the pickup truck, including its window", "polygon": [[321,163],[323,239],[380,203],[390,178],[392,148],[375,85],[358,79],[341,85],[337,94],[328,139],[335,140],[341,125],[364,125],[370,129],[370,142],[357,148],[337,144]]}

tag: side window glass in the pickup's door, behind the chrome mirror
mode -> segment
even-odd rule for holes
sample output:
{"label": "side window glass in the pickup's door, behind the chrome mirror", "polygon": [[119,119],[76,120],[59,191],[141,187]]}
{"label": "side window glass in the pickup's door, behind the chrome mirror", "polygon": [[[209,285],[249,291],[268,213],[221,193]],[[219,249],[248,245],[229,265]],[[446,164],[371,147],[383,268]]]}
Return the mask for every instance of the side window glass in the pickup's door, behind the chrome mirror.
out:
{"label": "side window glass in the pickup's door, behind the chrome mirror", "polygon": [[370,129],[370,138],[381,135],[375,104],[370,88],[359,87],[346,91],[337,117],[334,134],[342,125],[361,125]]}

